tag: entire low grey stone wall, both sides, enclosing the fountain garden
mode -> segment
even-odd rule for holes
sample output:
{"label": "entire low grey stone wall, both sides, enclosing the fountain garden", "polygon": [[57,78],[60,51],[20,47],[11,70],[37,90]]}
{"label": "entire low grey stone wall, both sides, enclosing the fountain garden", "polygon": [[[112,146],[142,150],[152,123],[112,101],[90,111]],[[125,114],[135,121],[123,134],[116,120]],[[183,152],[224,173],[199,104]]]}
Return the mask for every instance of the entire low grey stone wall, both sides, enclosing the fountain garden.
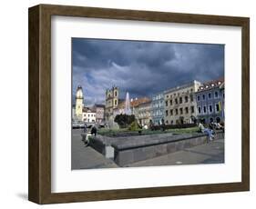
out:
{"label": "entire low grey stone wall, both sides, enclosing the fountain garden", "polygon": [[[215,139],[224,138],[222,132],[215,134]],[[114,161],[119,166],[126,166],[163,154],[174,153],[192,146],[207,143],[207,134],[148,134],[125,137],[91,136],[90,146],[107,156],[107,149],[114,148]],[[107,148],[108,147],[108,148]],[[112,157],[111,157],[112,158]]]}

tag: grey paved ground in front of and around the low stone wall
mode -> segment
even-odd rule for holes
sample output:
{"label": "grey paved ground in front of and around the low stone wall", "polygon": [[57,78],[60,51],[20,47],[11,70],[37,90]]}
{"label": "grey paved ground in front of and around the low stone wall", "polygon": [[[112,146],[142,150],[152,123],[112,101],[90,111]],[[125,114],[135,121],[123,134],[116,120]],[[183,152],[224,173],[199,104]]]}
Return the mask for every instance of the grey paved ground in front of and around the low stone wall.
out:
{"label": "grey paved ground in front of and around the low stone wall", "polygon": [[[72,130],[72,169],[115,168],[118,164],[106,158],[81,137],[82,129]],[[222,164],[224,163],[224,139],[202,144],[172,154],[165,154],[126,166],[174,165],[174,164]]]}

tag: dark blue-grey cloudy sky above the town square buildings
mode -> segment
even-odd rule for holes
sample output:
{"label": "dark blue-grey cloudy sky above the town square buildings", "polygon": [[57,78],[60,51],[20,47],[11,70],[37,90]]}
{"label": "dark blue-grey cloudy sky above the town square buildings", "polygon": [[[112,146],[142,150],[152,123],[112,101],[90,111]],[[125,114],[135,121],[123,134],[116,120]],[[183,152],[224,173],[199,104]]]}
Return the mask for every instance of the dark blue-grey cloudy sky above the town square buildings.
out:
{"label": "dark blue-grey cloudy sky above the town square buildings", "polygon": [[104,104],[113,85],[135,98],[224,76],[224,45],[72,38],[72,59],[73,103],[82,85],[86,105]]}

